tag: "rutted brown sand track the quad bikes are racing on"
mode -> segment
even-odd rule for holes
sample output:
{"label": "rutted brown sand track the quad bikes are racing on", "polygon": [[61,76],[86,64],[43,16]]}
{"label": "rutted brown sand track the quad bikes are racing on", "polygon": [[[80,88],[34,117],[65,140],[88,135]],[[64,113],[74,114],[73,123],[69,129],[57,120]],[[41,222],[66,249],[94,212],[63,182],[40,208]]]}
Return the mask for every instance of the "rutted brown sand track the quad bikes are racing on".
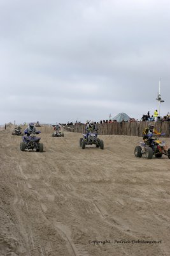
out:
{"label": "rutted brown sand track the quad bikes are racing on", "polygon": [[138,137],[82,150],[81,134],[37,129],[43,153],[0,131],[0,255],[170,255],[170,159],[134,157]]}

